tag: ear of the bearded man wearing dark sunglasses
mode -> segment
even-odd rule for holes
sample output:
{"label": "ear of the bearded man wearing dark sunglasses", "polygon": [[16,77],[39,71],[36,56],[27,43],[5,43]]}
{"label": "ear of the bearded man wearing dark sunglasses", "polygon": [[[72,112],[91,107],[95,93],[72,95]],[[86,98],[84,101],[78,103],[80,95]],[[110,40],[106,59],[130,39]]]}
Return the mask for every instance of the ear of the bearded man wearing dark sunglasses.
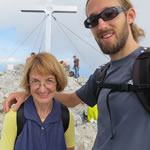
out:
{"label": "ear of the bearded man wearing dark sunglasses", "polygon": [[129,8],[127,11],[127,21],[129,24],[132,24],[135,20],[136,13],[134,8]]}

